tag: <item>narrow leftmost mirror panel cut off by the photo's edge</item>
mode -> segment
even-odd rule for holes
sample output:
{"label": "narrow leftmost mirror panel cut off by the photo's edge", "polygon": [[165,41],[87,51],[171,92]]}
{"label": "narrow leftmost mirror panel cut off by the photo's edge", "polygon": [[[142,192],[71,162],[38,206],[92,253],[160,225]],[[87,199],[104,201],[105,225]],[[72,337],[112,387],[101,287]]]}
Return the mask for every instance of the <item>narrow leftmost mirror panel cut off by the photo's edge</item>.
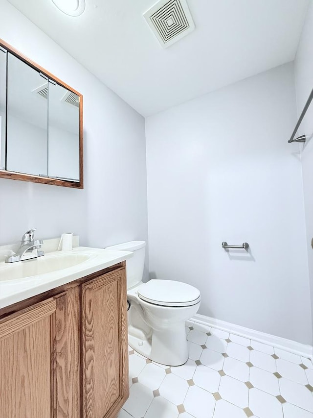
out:
{"label": "narrow leftmost mirror panel cut off by the photo's edge", "polygon": [[0,169],[5,168],[6,50],[0,48]]}

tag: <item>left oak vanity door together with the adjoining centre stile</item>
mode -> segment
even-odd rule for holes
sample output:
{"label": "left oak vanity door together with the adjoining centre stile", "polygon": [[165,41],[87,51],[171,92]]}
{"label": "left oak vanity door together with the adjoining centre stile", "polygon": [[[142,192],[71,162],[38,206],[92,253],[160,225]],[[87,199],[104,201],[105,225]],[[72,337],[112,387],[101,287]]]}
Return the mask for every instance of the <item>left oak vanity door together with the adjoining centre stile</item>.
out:
{"label": "left oak vanity door together with the adjoining centre stile", "polygon": [[0,320],[0,417],[79,417],[79,287]]}

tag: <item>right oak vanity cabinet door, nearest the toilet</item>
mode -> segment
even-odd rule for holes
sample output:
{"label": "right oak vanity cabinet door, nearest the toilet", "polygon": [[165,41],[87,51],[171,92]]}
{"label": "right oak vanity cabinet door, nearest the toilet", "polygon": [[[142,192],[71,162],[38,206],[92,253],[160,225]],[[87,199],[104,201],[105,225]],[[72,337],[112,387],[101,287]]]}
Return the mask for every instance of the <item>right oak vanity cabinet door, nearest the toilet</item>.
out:
{"label": "right oak vanity cabinet door, nearest the toilet", "polygon": [[82,285],[82,417],[111,418],[129,396],[125,268]]}

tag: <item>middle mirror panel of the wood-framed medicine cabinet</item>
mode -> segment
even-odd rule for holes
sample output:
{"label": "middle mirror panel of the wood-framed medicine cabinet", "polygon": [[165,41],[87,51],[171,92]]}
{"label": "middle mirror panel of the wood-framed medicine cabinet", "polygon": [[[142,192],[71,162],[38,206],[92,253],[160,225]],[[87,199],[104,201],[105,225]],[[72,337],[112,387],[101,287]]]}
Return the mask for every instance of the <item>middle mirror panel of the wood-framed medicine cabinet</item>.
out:
{"label": "middle mirror panel of the wood-framed medicine cabinet", "polygon": [[48,174],[48,81],[8,53],[6,170]]}

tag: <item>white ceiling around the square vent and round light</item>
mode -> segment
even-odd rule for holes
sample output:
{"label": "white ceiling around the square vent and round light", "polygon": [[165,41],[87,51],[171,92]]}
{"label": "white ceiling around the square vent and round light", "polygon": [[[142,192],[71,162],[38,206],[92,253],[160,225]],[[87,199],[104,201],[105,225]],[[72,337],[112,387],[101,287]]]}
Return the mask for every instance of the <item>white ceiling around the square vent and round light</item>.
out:
{"label": "white ceiling around the square vent and round light", "polygon": [[156,0],[86,0],[75,18],[51,0],[9,1],[148,116],[292,61],[311,0],[187,0],[196,29],[167,49],[143,18]]}

